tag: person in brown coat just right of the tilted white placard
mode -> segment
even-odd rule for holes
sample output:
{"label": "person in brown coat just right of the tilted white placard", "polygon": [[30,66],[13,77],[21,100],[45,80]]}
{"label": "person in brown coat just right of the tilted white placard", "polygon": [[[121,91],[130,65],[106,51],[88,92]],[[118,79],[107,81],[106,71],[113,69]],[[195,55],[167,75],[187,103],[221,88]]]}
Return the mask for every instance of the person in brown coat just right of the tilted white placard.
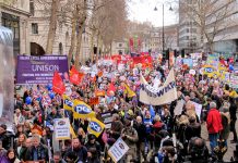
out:
{"label": "person in brown coat just right of the tilted white placard", "polygon": [[136,155],[138,131],[131,126],[131,121],[124,120],[126,127],[121,130],[121,138],[129,146],[129,151],[121,160],[123,163],[130,162]]}

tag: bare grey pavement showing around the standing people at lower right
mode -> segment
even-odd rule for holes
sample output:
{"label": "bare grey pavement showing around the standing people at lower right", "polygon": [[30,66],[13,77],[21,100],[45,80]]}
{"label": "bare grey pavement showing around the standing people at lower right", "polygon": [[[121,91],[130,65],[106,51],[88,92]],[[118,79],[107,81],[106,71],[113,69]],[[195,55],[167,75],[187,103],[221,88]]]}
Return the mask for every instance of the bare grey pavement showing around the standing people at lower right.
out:
{"label": "bare grey pavement showing around the standing people at lower right", "polygon": [[[238,116],[238,113],[237,113]],[[238,121],[236,122],[236,130],[238,131]],[[207,134],[207,129],[206,129],[206,124],[203,123],[202,124],[202,131],[201,131],[202,138],[206,140],[206,146],[210,149],[210,141],[209,141],[209,134]],[[225,162],[229,162],[231,156],[234,156],[234,151],[236,149],[236,143],[230,143],[230,140],[233,140],[233,133],[229,134],[229,138],[227,140],[228,142],[228,150],[224,155],[224,161]]]}

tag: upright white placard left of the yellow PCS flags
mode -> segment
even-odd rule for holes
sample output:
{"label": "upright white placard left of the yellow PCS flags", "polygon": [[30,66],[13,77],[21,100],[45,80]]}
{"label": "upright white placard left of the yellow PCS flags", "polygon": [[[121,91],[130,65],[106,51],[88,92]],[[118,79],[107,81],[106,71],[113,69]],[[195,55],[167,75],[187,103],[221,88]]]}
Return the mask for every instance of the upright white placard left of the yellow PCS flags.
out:
{"label": "upright white placard left of the yellow PCS flags", "polygon": [[70,139],[70,122],[69,118],[55,118],[53,129],[57,140]]}

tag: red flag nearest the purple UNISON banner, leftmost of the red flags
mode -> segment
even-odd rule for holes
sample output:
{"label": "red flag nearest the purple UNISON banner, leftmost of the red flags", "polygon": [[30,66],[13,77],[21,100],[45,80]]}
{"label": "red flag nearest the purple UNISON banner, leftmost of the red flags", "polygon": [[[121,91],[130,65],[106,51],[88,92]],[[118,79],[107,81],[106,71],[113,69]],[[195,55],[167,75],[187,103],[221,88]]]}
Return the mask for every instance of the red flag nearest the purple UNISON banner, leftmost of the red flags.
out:
{"label": "red flag nearest the purple UNISON banner, leftmost of the red flags", "polygon": [[52,91],[58,92],[60,95],[63,95],[63,92],[66,91],[66,86],[58,72],[53,73]]}

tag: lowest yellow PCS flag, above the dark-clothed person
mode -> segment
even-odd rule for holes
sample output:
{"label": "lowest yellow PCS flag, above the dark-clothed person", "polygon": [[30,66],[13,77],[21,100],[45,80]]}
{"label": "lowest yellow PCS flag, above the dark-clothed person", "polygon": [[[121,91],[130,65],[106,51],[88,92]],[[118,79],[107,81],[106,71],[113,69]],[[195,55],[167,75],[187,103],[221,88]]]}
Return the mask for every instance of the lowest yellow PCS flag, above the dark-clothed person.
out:
{"label": "lowest yellow PCS flag, above the dark-clothed person", "polygon": [[98,137],[105,128],[105,124],[99,122],[96,117],[91,118],[87,126],[87,131]]}

